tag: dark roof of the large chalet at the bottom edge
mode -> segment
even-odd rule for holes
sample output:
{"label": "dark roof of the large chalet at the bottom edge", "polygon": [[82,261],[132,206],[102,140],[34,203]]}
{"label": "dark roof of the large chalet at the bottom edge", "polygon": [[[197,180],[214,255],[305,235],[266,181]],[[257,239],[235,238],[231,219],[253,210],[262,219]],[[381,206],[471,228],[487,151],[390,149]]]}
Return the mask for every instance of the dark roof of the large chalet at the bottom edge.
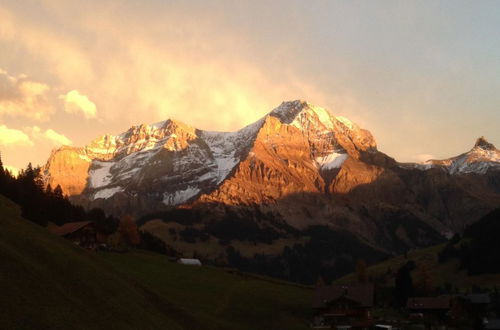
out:
{"label": "dark roof of the large chalet at the bottom edge", "polygon": [[373,306],[373,285],[366,283],[319,287],[316,289],[313,308],[324,308],[329,302],[339,298],[357,302],[360,307],[371,307]]}

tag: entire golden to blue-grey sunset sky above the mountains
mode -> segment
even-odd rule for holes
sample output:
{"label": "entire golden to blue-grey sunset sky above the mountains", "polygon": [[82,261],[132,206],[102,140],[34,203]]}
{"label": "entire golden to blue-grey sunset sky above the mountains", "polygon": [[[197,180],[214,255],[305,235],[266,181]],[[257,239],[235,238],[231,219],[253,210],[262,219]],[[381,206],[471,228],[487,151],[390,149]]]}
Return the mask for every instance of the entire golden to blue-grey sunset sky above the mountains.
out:
{"label": "entire golden to blue-grey sunset sky above the mountains", "polygon": [[304,99],[398,161],[500,145],[499,1],[0,3],[0,152],[168,118],[231,131]]}

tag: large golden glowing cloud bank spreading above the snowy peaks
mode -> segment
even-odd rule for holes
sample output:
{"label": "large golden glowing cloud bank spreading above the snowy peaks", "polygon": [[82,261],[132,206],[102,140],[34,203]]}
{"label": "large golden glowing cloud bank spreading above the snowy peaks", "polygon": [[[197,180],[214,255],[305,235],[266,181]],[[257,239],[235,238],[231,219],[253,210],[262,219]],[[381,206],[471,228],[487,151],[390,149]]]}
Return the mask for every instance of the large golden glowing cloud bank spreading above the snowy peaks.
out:
{"label": "large golden glowing cloud bank spreading above the snowy peaks", "polygon": [[[234,130],[284,100],[303,98],[328,106],[326,101],[335,99],[284,63],[278,73],[274,63],[261,65],[247,56],[252,43],[217,26],[202,11],[190,20],[175,12],[168,17],[149,13],[156,28],[144,30],[144,21],[124,25],[116,18],[117,10],[128,14],[122,6],[105,5],[95,15],[95,3],[89,3],[68,20],[58,9],[66,3],[57,3],[47,11],[71,26],[72,35],[54,31],[51,24],[20,24],[19,15],[5,9],[0,10],[0,41],[18,45],[44,63],[42,71],[50,68],[47,75],[71,89],[60,96],[69,113],[93,118],[95,101],[99,117],[123,127],[175,118],[199,128]],[[92,91],[92,101],[78,92],[84,90]]]}

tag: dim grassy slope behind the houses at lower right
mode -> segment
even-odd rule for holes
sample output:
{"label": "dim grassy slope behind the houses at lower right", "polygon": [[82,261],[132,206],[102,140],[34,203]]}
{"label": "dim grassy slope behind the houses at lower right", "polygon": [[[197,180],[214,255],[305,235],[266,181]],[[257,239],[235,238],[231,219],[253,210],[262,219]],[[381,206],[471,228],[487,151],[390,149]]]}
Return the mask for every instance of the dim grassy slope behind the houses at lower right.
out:
{"label": "dim grassy slope behind the houses at lower right", "polygon": [[[394,273],[404,265],[408,260],[413,260],[417,264],[417,269],[412,272],[414,283],[418,281],[418,267],[426,264],[429,269],[430,278],[433,281],[434,287],[442,287],[445,283],[451,283],[454,287],[460,289],[468,289],[472,286],[493,287],[500,284],[500,274],[483,274],[477,276],[469,276],[465,270],[460,269],[460,264],[457,259],[452,259],[445,263],[438,262],[438,254],[444,248],[445,244],[440,244],[424,249],[414,250],[408,253],[408,257],[398,256],[371,267],[368,267],[367,274],[372,278],[380,278],[387,269],[392,269]],[[338,283],[346,283],[356,279],[356,274],[349,274],[337,280]],[[394,286],[394,277],[389,276],[387,281],[388,286]]]}

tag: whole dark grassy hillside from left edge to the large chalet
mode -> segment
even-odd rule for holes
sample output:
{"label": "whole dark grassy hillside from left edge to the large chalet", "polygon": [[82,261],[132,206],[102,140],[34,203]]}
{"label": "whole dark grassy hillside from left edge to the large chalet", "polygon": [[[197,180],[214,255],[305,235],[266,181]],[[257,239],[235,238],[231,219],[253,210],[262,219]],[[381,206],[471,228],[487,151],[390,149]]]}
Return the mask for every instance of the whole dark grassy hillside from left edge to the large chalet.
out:
{"label": "whole dark grassy hillside from left edge to the large chalet", "polygon": [[91,253],[1,196],[0,265],[0,329],[305,329],[312,296],[159,255]]}

